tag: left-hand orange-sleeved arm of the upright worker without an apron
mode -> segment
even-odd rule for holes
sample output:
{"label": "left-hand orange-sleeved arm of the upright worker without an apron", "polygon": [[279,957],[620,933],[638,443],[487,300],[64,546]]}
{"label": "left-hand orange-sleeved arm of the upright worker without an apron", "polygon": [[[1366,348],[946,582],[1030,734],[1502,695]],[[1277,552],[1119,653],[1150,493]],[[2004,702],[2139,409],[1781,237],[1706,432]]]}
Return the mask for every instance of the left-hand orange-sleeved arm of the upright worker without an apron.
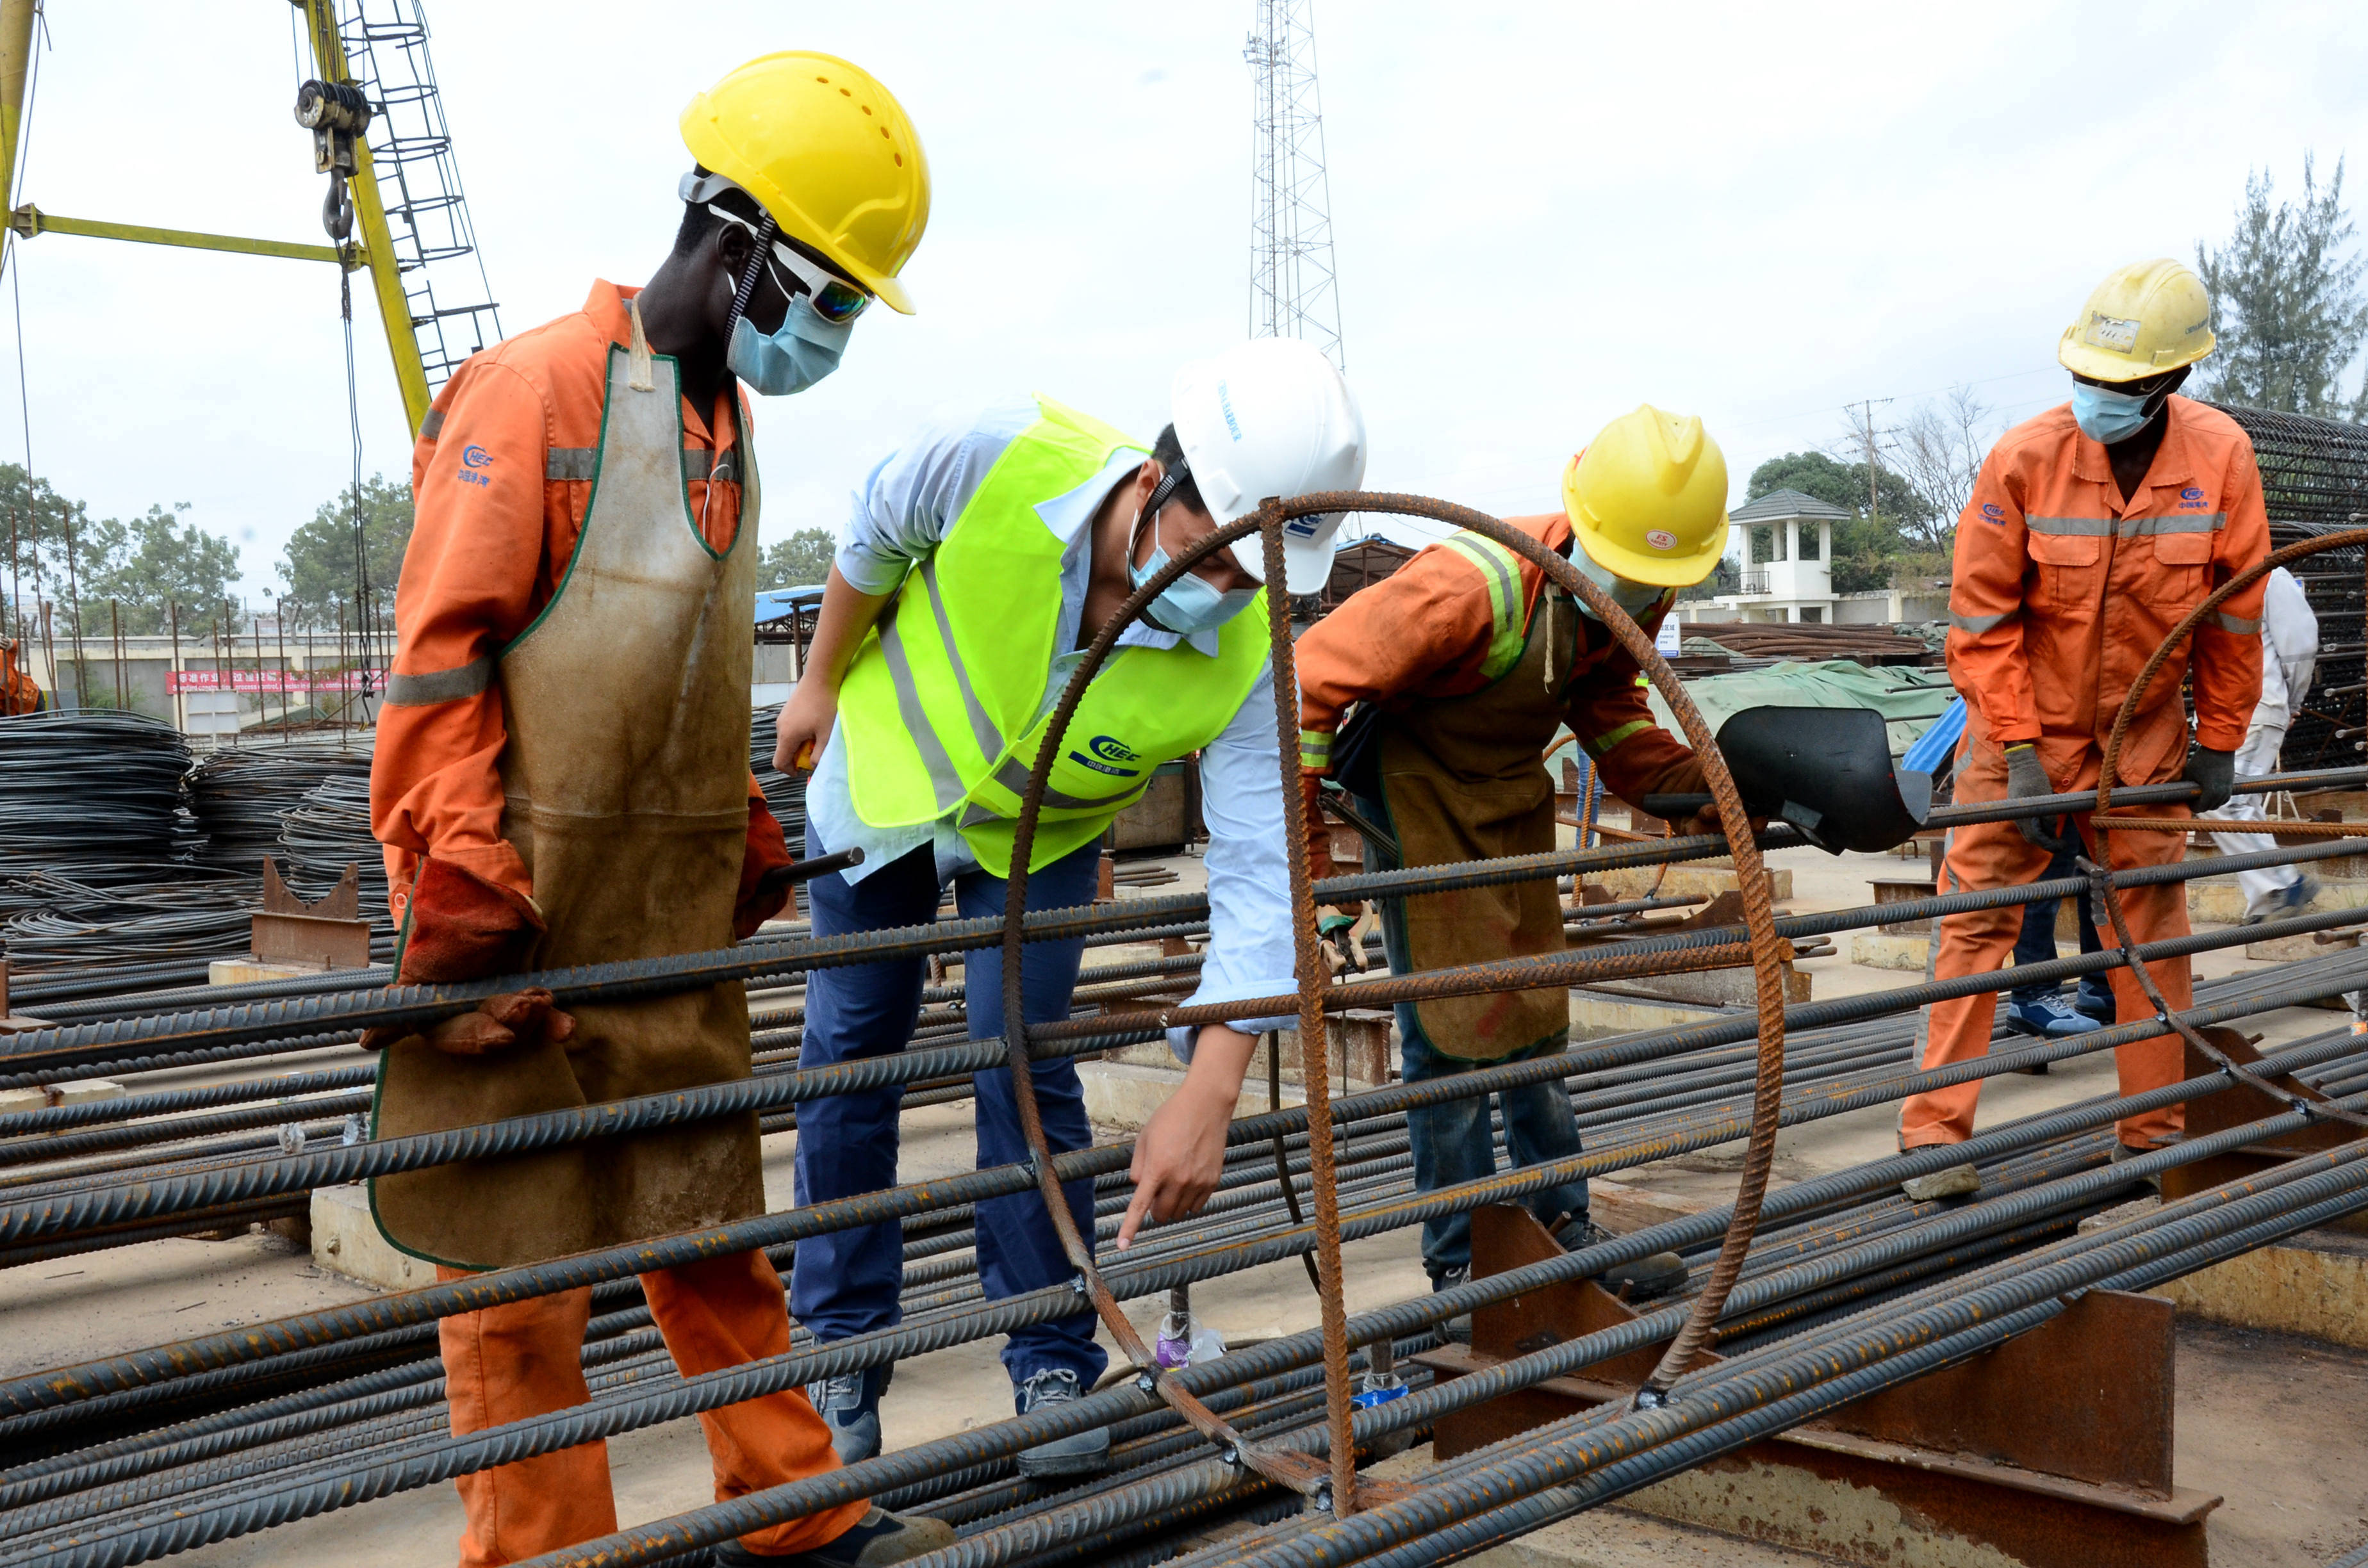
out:
{"label": "left-hand orange-sleeved arm of the upright worker without an apron", "polygon": [[[2029,533],[2022,521],[2022,483],[2003,448],[1991,448],[1973,481],[1973,500],[1956,519],[1956,564],[1949,585],[1949,680],[1980,713],[1980,732],[1994,746],[2039,739],[2039,699],[2022,651],[2022,580],[2029,568]],[[2098,559],[2093,535],[2044,535],[2046,550],[2086,550]],[[2074,561],[2065,561],[2070,571]],[[2242,737],[2242,725],[2238,725]]]}

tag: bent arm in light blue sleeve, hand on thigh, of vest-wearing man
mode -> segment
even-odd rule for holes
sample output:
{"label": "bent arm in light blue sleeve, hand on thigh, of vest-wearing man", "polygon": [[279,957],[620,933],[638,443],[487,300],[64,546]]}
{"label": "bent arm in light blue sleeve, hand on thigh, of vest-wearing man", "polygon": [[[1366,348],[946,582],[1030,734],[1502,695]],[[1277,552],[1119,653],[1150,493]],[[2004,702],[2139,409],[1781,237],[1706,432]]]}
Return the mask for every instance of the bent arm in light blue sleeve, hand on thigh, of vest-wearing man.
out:
{"label": "bent arm in light blue sleeve, hand on thigh, of vest-wearing man", "polygon": [[1032,403],[938,415],[864,476],[822,587],[815,642],[798,687],[781,703],[772,765],[812,767],[838,720],[838,682],[916,561],[935,554],[1011,438],[1032,424]]}

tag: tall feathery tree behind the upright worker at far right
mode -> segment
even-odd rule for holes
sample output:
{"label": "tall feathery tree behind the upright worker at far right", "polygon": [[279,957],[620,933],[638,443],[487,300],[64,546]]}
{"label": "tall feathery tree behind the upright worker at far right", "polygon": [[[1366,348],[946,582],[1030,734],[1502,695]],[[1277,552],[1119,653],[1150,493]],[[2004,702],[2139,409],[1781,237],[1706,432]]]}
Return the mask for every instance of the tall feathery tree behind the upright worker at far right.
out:
{"label": "tall feathery tree behind the upright worker at far right", "polygon": [[2245,175],[2235,232],[2219,249],[2195,246],[2195,270],[2212,291],[2212,358],[2195,367],[2195,396],[2285,415],[2368,417],[2368,377],[2344,400],[2337,377],[2368,339],[2361,270],[2347,256],[2344,166],[2318,189],[2302,159],[2302,201],[2271,201],[2269,173]]}

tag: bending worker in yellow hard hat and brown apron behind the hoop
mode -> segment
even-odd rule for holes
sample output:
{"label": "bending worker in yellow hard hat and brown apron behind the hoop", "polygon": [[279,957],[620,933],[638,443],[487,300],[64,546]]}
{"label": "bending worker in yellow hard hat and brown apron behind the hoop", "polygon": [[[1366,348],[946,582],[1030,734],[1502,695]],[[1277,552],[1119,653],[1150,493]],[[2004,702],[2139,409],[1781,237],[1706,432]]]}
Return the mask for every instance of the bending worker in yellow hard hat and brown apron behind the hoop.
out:
{"label": "bending worker in yellow hard hat and brown apron behind the hoop", "polygon": [[[1726,550],[1726,457],[1693,417],[1658,407],[1613,419],[1570,460],[1563,512],[1506,519],[1570,559],[1650,637],[1677,590],[1700,583]],[[1577,547],[1572,547],[1577,545]],[[1610,630],[1553,587],[1525,554],[1478,533],[1430,545],[1383,583],[1359,590],[1298,642],[1300,789],[1310,872],[1331,874],[1321,782],[1345,772],[1352,808],[1390,836],[1366,841],[1373,869],[1553,850],[1553,782],[1544,756],[1563,725],[1603,786],[1636,803],[1705,789],[1703,765],[1653,722],[1643,675]],[[1350,703],[1354,758],[1336,748]],[[1688,824],[1719,831],[1717,822]],[[1326,914],[1340,926],[1359,907]],[[1409,973],[1513,955],[1561,952],[1563,905],[1551,881],[1463,888],[1381,905],[1390,969]],[[1563,1052],[1568,988],[1402,1002],[1407,1082]],[[1579,1153],[1561,1082],[1501,1090],[1513,1165]],[[1497,1170],[1487,1097],[1407,1113],[1414,1184],[1433,1191]],[[1532,1194],[1530,1213],[1577,1251],[1603,1241],[1587,1182]],[[1471,1274],[1471,1215],[1423,1222],[1433,1289]],[[1629,1296],[1686,1281],[1677,1253],[1653,1253],[1603,1277]]]}

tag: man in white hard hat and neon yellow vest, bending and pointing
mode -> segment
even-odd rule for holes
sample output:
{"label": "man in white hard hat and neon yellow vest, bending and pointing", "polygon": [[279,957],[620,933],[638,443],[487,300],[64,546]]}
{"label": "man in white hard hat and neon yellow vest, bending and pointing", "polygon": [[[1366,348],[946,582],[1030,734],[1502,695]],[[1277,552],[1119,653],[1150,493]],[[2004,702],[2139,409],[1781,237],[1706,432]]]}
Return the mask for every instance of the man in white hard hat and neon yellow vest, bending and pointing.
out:
{"label": "man in white hard hat and neon yellow vest, bending and pointing", "polygon": [[[862,848],[862,867],[807,883],[815,936],[914,926],[954,886],[964,917],[1002,914],[1021,791],[1054,701],[1113,611],[1170,559],[1267,495],[1347,490],[1364,476],[1364,419],[1340,372],[1295,339],[1241,343],[1186,365],[1172,424],[1144,445],[1051,398],[940,419],[890,452],[855,495],[805,675],[781,706],[774,763],[810,765],[805,850]],[[1198,564],[1118,637],[1087,687],[1051,770],[1028,857],[1028,907],[1094,900],[1101,836],[1153,770],[1201,753],[1210,945],[1193,1002],[1288,995],[1291,876],[1265,592],[1314,592],[1331,573],[1338,516],[1286,528],[1288,583],[1267,583],[1260,535]],[[1030,1023],[1068,1016],[1082,940],[1030,943]],[[921,959],[819,969],[805,990],[798,1061],[824,1066],[905,1049]],[[1004,1030],[1002,962],[964,955],[971,1037]],[[1248,1018],[1170,1030],[1186,1059],[1177,1094],[1134,1146],[1144,1217],[1193,1213],[1217,1187],[1224,1127],[1257,1030]],[[1030,1158],[1004,1068],[978,1073],[978,1163]],[[1068,1056],[1035,1063],[1056,1153],[1092,1144]],[[798,1106],[798,1201],[890,1187],[897,1090]],[[1068,1187],[1094,1234],[1094,1184]],[[1068,1265],[1035,1194],[978,1206],[978,1274],[1002,1298],[1066,1286]],[[791,1310],[836,1341],[897,1322],[902,1234],[890,1220],[798,1244]],[[1077,1400],[1106,1367],[1094,1315],[1018,1329],[1004,1348],[1021,1414]],[[810,1388],[843,1459],[879,1450],[886,1369]],[[1028,1450],[1023,1476],[1094,1473],[1103,1428]]]}

